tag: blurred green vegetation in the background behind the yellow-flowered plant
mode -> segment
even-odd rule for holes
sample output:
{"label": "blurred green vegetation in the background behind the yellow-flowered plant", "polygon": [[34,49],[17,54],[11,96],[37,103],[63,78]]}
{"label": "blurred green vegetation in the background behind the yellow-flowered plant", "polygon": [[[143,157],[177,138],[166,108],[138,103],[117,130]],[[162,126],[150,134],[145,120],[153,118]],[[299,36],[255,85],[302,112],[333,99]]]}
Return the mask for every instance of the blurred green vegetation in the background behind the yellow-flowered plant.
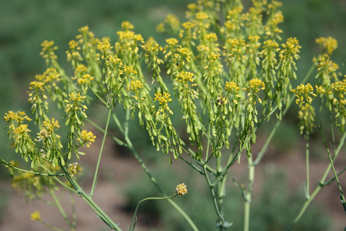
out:
{"label": "blurred green vegetation in the background behind the yellow-flowered plant", "polygon": [[[70,64],[65,62],[65,51],[68,49],[67,43],[78,34],[78,28],[88,25],[96,37],[108,36],[111,38],[111,42],[114,43],[118,39],[116,32],[120,30],[121,22],[128,20],[135,26],[135,32],[141,34],[145,40],[149,36],[154,36],[159,44],[164,44],[164,39],[170,37],[170,35],[157,34],[155,32],[156,25],[170,13],[177,15],[181,21],[184,21],[186,5],[192,2],[194,1],[0,1],[0,114],[4,115],[9,110],[29,112],[30,106],[26,92],[35,74],[45,71],[45,61],[39,56],[41,50],[40,43],[45,39],[55,41],[55,45],[59,47],[56,52],[59,61],[67,73],[70,74],[72,70]],[[339,64],[339,71],[346,73],[345,66],[343,65],[346,60],[346,1],[283,0],[282,2],[284,5],[281,11],[283,12],[285,22],[279,26],[284,31],[281,37],[284,41],[287,37],[297,37],[299,44],[302,45],[301,59],[297,62],[298,78],[302,79],[305,76],[312,64],[312,57],[318,54],[319,50],[318,45],[315,43],[315,38],[320,36],[332,36],[337,39],[338,49],[333,53],[332,59]],[[244,0],[243,3],[245,9],[247,9],[251,1]],[[311,75],[311,83],[316,82],[313,79],[315,73]],[[292,86],[295,86],[295,83]],[[282,152],[282,149],[284,149],[285,153],[288,153],[293,143],[302,140],[302,137],[299,136],[298,127],[292,125],[297,124],[296,112],[297,109],[293,109],[286,115],[279,131],[281,133],[278,133],[273,140],[272,152]],[[97,112],[91,113],[96,118],[103,118]],[[2,127],[6,126],[4,122],[1,124]],[[142,147],[141,154],[143,154],[144,160],[151,162],[153,166],[156,166],[161,161],[168,162],[166,157],[157,155],[158,153],[153,151],[154,148],[151,142],[139,139],[143,134],[140,133],[141,128],[137,125],[133,127],[134,131],[136,131],[133,138],[140,140],[137,145]],[[268,129],[261,130],[263,134],[267,134],[267,131]],[[312,136],[312,141],[315,138],[316,140],[319,139],[319,137]],[[2,140],[0,142],[1,157],[8,161],[18,159],[18,155],[15,155],[14,150],[9,149],[10,143],[6,136],[6,131],[0,133],[0,140]],[[121,152],[122,156],[129,155],[129,153],[124,154],[125,150],[116,149],[116,151]],[[315,159],[319,159],[318,154],[316,154]],[[192,172],[188,172],[188,174],[198,178]],[[167,178],[179,183],[178,179],[175,180],[172,177],[175,176],[173,167],[168,171],[158,167],[156,172],[154,171],[154,175],[163,184]],[[298,190],[299,196],[295,197],[295,193],[298,195],[298,192],[294,192],[293,196],[289,195],[289,185],[285,183],[285,172],[265,173],[264,175],[268,180],[261,187],[263,188],[261,189],[261,196],[256,198],[256,201],[253,203],[251,229],[283,230],[290,224],[300,208],[303,201],[302,188]],[[146,176],[143,175],[142,178],[138,182],[128,184],[126,189],[124,189],[123,193],[127,195],[126,198],[128,200],[128,204],[123,208],[124,212],[129,212],[130,214],[136,202],[142,198],[159,196],[153,186],[150,185]],[[189,180],[187,179],[185,184],[190,183],[190,185],[193,185],[192,179],[194,178],[189,177],[189,179],[191,182],[188,182]],[[1,220],[4,211],[6,211],[6,202],[11,192],[10,189],[6,188],[10,185],[9,174],[6,168],[0,167],[0,180],[2,181],[0,188],[0,222],[6,222]],[[167,187],[165,186],[165,188]],[[270,192],[267,191],[268,189],[271,189]],[[139,190],[142,192],[141,194],[138,194]],[[230,230],[240,230],[243,220],[242,198],[233,185],[229,185],[228,191],[231,196],[228,197],[226,212],[230,214],[230,217],[232,217],[231,221],[234,222],[234,226],[231,226]],[[209,192],[203,187],[199,191],[198,197],[184,198],[181,201],[185,205],[186,203],[191,205],[189,206],[191,211],[188,212],[199,227],[204,227],[204,230],[213,230],[215,228],[216,216],[212,211],[211,201],[209,198],[201,200],[201,197],[210,197]],[[286,207],[288,204],[292,206],[289,210]],[[153,222],[149,222],[149,230],[189,230],[186,222],[172,211],[167,204],[157,202],[150,204],[150,206],[148,205],[148,207],[151,208],[151,211],[145,211],[144,213],[148,217],[156,217]],[[209,210],[212,212],[201,215],[200,213],[194,213],[192,208],[197,211]],[[317,204],[312,204],[295,230],[328,230],[328,227],[332,227],[330,226],[331,221],[328,214],[323,212],[323,208]],[[314,226],[311,226],[311,224],[314,224]]]}

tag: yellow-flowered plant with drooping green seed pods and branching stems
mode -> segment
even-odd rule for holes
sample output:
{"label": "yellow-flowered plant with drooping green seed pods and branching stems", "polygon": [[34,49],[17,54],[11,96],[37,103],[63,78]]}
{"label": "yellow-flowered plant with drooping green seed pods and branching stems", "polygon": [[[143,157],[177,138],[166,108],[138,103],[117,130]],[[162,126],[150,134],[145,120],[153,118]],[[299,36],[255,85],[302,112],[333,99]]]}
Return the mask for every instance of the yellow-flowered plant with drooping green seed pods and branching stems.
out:
{"label": "yellow-flowered plant with drooping green seed pods and branching stems", "polygon": [[[172,36],[166,39],[166,44],[161,45],[153,37],[145,40],[142,35],[136,34],[134,26],[128,21],[121,24],[121,30],[117,32],[119,39],[115,43],[108,37],[98,39],[88,26],[82,27],[66,51],[73,76],[66,75],[59,64],[54,42],[44,41],[41,55],[46,61],[47,70],[35,76],[36,80],[30,83],[28,91],[33,115],[9,111],[4,116],[11,147],[28,162],[28,166],[19,167],[15,162],[0,158],[1,165],[10,171],[13,186],[21,188],[27,199],[50,194],[54,202],[46,202],[58,208],[71,230],[77,229],[75,209],[72,217],[66,215],[56,196],[58,185],[71,192],[73,208],[73,195],[77,194],[109,228],[125,229],[124,224],[119,224],[121,221],[116,217],[111,219],[92,199],[97,187],[104,141],[109,136],[134,154],[163,196],[142,201],[166,199],[190,224],[187,230],[198,231],[199,224],[195,224],[184,208],[173,201],[176,195],[187,193],[186,185],[178,185],[174,195],[167,195],[139,157],[129,138],[129,123],[137,123],[147,131],[157,152],[166,155],[170,163],[182,160],[179,163],[186,163],[201,174],[201,179],[205,179],[206,187],[210,190],[209,199],[218,217],[218,230],[228,229],[233,221],[233,217],[224,211],[228,170],[236,163],[245,165],[248,168],[248,181],[241,184],[233,178],[233,182],[244,199],[244,231],[247,231],[255,167],[264,157],[281,119],[294,105],[296,96],[295,103],[300,108],[299,128],[307,141],[306,202],[288,229],[291,230],[299,221],[319,190],[334,180],[346,211],[338,180],[338,175],[345,169],[337,173],[333,165],[346,137],[346,80],[337,74],[338,66],[330,58],[337,42],[331,37],[316,39],[321,54],[313,59],[313,65],[305,77],[297,76],[296,61],[300,58],[302,47],[297,38],[289,37],[282,41],[282,30],[279,28],[283,22],[279,10],[282,3],[266,0],[253,0],[252,3],[247,12],[240,1],[233,0],[199,0],[197,4],[189,4],[185,22],[181,23],[176,16],[168,15],[157,26],[158,32]],[[148,71],[142,70],[145,65]],[[318,85],[313,87],[306,81],[315,68],[318,71]],[[147,73],[149,79],[146,78]],[[301,85],[293,89],[292,80],[299,80]],[[326,108],[330,114],[332,150],[328,148],[322,123],[312,107],[313,100],[320,98],[318,95],[326,105],[322,110]],[[65,112],[59,121],[60,124],[65,122],[67,134],[60,134],[61,125],[56,118],[50,117],[48,97]],[[104,106],[108,115],[104,128],[88,117],[90,109],[99,104]],[[125,111],[124,120],[118,117],[120,110]],[[181,124],[173,123],[173,115],[181,117]],[[110,120],[121,132],[120,137],[108,133]],[[275,126],[266,137],[261,151],[254,155],[252,145],[256,142],[258,127],[272,120]],[[85,154],[95,154],[79,151],[82,146],[92,145],[96,138],[92,132],[83,129],[84,123],[104,133],[90,183],[91,192],[85,192],[78,183],[82,168],[77,159]],[[29,130],[35,126],[39,130],[37,134]],[[334,139],[334,126],[343,133],[339,142]],[[181,130],[181,127],[184,129]],[[313,127],[318,127],[320,131],[330,163],[318,187],[310,194],[308,140]],[[242,153],[246,153],[247,163],[240,161]],[[330,168],[334,177],[326,180]],[[138,206],[130,231],[135,229]],[[42,221],[38,211],[31,214],[31,219],[54,230],[62,230]]]}

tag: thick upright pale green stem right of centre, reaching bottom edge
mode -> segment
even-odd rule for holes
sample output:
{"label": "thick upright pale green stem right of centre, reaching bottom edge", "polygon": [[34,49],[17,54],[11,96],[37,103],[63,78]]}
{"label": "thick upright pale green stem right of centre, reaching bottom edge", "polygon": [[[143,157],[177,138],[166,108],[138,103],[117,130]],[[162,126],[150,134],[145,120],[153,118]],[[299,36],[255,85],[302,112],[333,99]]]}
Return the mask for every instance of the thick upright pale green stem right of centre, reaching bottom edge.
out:
{"label": "thick upright pale green stem right of centre, reaching bottom edge", "polygon": [[247,192],[246,192],[247,199],[244,201],[244,231],[249,230],[251,194],[252,194],[252,186],[253,186],[254,178],[255,178],[255,166],[252,164],[251,154],[247,162],[248,162],[248,168],[249,168],[249,184],[248,184]]}

